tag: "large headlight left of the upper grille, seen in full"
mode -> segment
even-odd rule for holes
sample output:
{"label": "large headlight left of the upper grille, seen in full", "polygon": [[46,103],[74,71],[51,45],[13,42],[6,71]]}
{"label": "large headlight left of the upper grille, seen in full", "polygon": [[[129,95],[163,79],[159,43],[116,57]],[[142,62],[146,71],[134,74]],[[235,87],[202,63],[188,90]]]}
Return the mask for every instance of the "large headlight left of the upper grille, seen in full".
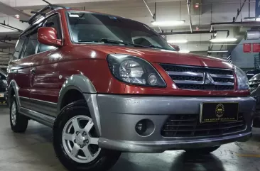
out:
{"label": "large headlight left of the upper grille, seen in full", "polygon": [[156,69],[139,57],[114,54],[108,55],[107,61],[110,71],[121,82],[151,87],[166,87],[166,83]]}

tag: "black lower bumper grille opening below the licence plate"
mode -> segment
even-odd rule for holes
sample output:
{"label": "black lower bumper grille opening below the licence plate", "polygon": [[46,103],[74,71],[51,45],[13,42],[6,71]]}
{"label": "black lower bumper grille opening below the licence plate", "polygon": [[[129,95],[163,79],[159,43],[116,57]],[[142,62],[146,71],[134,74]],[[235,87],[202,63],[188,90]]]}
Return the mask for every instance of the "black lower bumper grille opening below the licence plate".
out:
{"label": "black lower bumper grille opening below the licence plate", "polygon": [[220,136],[224,133],[244,131],[247,125],[242,113],[238,121],[200,123],[199,114],[175,114],[170,116],[163,128],[163,137]]}

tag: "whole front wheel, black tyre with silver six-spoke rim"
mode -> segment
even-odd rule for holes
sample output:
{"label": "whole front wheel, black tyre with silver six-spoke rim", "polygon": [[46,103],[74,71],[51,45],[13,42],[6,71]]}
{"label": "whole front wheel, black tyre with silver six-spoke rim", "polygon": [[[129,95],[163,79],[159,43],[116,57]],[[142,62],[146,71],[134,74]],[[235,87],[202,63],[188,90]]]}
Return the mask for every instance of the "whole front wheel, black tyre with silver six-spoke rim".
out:
{"label": "whole front wheel, black tyre with silver six-spoke rim", "polygon": [[68,170],[109,170],[120,152],[101,149],[98,136],[84,100],[65,106],[53,126],[53,146]]}

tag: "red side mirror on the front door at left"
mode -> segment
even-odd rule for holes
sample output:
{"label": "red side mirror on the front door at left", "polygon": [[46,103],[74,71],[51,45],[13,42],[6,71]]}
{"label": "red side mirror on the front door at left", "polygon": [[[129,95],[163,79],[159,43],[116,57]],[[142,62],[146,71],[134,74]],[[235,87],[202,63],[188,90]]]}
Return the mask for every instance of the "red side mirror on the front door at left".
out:
{"label": "red side mirror on the front door at left", "polygon": [[62,46],[62,40],[57,38],[57,31],[55,28],[42,27],[38,29],[38,41],[44,45],[52,45],[55,47]]}

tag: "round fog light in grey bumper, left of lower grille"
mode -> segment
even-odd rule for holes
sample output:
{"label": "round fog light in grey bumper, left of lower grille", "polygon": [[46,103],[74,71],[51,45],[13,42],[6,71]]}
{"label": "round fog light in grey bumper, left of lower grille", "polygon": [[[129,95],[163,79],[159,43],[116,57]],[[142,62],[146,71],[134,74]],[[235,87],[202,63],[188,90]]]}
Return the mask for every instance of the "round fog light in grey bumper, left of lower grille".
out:
{"label": "round fog light in grey bumper, left of lower grille", "polygon": [[136,133],[140,136],[149,136],[154,131],[154,124],[149,119],[143,119],[136,123]]}

